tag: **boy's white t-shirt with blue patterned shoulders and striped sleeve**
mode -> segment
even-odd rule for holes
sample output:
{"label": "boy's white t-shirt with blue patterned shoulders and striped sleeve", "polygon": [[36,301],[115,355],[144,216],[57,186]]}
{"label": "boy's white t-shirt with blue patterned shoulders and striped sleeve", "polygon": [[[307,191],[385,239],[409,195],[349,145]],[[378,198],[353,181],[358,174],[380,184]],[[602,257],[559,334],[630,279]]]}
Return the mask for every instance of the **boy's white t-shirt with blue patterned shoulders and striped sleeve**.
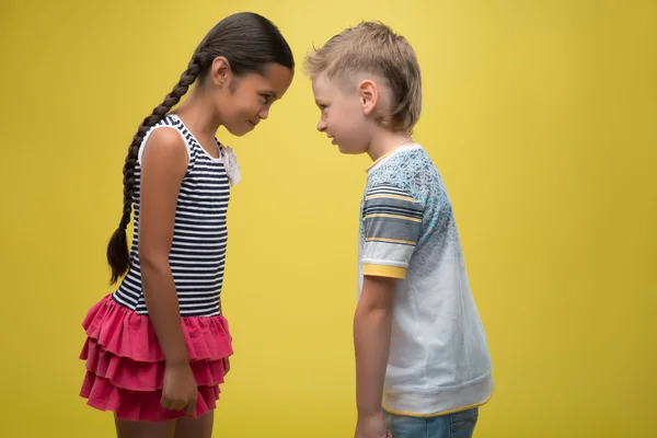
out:
{"label": "boy's white t-shirt with blue patterned shoulders and striped sleeve", "polygon": [[486,336],[451,203],[426,151],[400,147],[374,162],[360,208],[358,297],[364,275],[399,278],[383,407],[426,416],[485,403]]}

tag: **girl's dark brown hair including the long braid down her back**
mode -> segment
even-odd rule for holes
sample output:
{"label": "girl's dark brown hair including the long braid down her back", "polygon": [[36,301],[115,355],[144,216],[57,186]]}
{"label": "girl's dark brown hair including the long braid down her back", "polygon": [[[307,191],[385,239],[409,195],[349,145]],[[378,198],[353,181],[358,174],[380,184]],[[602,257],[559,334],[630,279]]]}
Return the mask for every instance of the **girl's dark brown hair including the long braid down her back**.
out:
{"label": "girl's dark brown hair including the long braid down her back", "polygon": [[123,175],[124,201],[123,216],[118,228],[107,244],[107,262],[112,268],[111,284],[115,284],[129,267],[129,250],[126,229],[132,210],[132,191],[135,187],[135,164],[143,137],[158,124],[185,95],[195,81],[201,82],[217,57],[226,57],[237,77],[249,73],[264,73],[270,64],[278,64],[290,70],[295,68],[292,51],[278,31],[267,19],[252,12],[241,12],[221,20],[200,42],[187,69],[181,74],[173,91],[164,97],[151,115],[146,117],[132,142],[128,147]]}

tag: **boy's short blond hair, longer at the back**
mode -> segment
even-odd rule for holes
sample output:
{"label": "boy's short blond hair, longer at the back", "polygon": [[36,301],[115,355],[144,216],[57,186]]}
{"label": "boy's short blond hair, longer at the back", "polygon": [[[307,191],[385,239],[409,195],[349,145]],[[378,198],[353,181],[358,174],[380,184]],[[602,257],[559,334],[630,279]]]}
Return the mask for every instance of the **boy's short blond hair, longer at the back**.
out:
{"label": "boy's short blond hair, longer at the back", "polygon": [[388,81],[392,92],[389,113],[378,122],[391,130],[412,131],[422,112],[422,77],[415,50],[406,38],[378,21],[361,22],[313,49],[303,62],[311,78],[348,80],[367,72]]}

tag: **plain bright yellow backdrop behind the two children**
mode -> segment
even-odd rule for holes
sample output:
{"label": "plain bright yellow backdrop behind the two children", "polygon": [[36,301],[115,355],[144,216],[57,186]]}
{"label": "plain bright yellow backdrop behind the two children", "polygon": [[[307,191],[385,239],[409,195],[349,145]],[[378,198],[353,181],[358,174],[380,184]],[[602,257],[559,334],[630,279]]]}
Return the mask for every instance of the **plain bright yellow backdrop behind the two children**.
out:
{"label": "plain bright yellow backdrop behind the two children", "polygon": [[[424,0],[422,0],[424,1]],[[476,437],[657,436],[657,3],[148,0],[0,4],[0,436],[113,437],[78,397],[140,120],[228,13],[298,64],[361,19],[415,46],[416,139],[447,182],[495,366]],[[350,437],[366,157],[314,130],[300,73],[234,147],[216,437]]]}

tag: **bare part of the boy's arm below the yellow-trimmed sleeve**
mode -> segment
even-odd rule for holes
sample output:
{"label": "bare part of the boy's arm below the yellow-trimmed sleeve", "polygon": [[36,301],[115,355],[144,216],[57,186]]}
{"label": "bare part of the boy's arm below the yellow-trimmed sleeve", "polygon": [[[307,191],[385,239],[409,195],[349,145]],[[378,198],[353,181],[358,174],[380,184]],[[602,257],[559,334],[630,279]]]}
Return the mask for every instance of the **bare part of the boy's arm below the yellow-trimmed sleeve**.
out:
{"label": "bare part of the boy's arm below the yellow-trimmed sleeve", "polygon": [[381,413],[395,278],[366,276],[354,315],[358,416]]}

